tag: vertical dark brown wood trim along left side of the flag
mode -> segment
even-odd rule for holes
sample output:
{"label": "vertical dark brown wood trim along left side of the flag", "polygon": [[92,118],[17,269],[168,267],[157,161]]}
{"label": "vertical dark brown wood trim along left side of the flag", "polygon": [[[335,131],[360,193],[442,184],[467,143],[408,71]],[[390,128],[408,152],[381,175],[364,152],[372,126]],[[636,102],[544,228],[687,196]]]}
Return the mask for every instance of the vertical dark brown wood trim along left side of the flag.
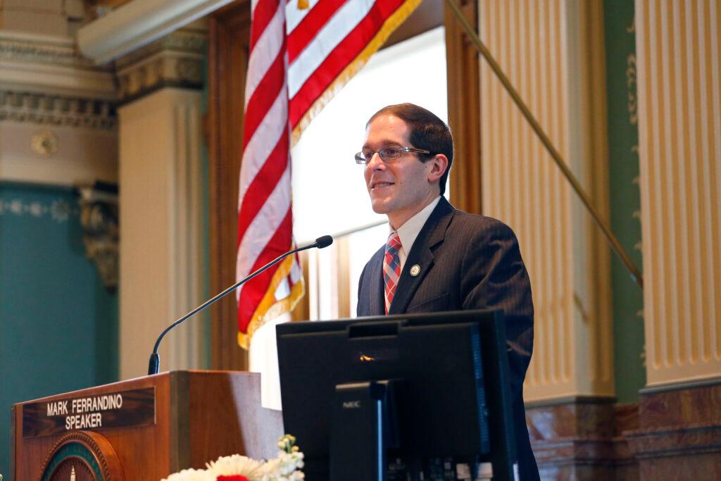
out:
{"label": "vertical dark brown wood trim along left side of the flag", "polygon": [[[206,121],[211,293],[220,292],[235,282],[238,180],[249,34],[249,1],[236,1],[211,16]],[[247,369],[247,352],[239,347],[237,340],[236,298],[229,295],[211,307],[213,369]]]}

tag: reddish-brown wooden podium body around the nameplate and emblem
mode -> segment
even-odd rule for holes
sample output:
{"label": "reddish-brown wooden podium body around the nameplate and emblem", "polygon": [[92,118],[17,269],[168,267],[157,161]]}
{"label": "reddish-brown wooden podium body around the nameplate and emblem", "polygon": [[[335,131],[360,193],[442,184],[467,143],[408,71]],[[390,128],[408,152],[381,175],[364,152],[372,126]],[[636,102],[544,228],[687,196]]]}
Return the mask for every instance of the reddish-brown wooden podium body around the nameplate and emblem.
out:
{"label": "reddish-brown wooden podium body around the nameplate and emblem", "polygon": [[[260,405],[260,374],[173,371],[82,389],[61,397],[87,397],[127,389],[155,389],[156,423],[92,431],[115,450],[125,480],[159,480],[202,468],[218,456],[273,457],[283,434],[280,411]],[[54,397],[44,398],[52,400]],[[13,406],[15,481],[40,479],[43,461],[63,435],[22,437],[22,404]]]}

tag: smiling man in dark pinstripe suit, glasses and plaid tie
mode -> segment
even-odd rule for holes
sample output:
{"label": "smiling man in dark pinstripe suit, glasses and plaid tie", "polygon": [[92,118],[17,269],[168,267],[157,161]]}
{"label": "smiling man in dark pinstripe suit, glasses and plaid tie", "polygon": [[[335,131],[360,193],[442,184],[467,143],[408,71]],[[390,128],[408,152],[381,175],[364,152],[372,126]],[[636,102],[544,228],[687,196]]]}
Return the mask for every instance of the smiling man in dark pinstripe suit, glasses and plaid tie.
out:
{"label": "smiling man in dark pinstripe suit, glasses and plaid tie", "polygon": [[361,274],[358,316],[503,309],[521,480],[539,478],[523,408],[533,348],[531,284],[513,231],[443,198],[453,162],[446,123],[412,104],[389,105],[366,124],[365,179],[391,234]]}

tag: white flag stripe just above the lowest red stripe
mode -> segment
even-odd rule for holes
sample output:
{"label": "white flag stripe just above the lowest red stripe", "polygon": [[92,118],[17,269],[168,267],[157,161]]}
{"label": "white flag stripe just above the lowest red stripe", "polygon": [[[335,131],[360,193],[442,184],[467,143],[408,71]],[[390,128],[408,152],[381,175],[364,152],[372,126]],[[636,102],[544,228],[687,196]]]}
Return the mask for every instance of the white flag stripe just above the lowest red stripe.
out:
{"label": "white flag stripe just above the lowest red stripe", "polygon": [[[291,208],[290,162],[273,192],[270,193],[270,197],[265,200],[265,204],[245,231],[236,257],[236,278],[244,278],[250,273],[258,256],[265,250],[268,242],[275,235],[275,231],[278,230],[278,226],[286,218],[289,208]],[[237,298],[240,297],[241,290],[242,286],[236,291]]]}

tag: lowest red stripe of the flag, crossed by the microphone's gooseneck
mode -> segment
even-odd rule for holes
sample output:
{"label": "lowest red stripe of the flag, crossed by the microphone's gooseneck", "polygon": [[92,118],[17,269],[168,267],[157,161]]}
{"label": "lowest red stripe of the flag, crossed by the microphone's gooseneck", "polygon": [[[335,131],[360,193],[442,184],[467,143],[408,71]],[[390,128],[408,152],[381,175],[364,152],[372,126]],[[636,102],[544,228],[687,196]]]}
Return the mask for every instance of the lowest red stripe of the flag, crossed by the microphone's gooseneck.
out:
{"label": "lowest red stripe of the flag, crossed by the microphone's gooseneck", "polygon": [[[291,245],[292,229],[292,209],[288,209],[286,217],[283,219],[283,222],[280,223],[278,229],[276,229],[273,238],[270,239],[265,250],[263,250],[262,254],[255,261],[255,264],[250,270],[251,272],[261,268],[263,265],[275,259],[275,257],[288,251],[288,247]],[[270,284],[270,280],[277,270],[278,265],[268,268],[253,278],[252,281],[248,281],[241,291],[238,301],[238,328],[241,332],[246,332],[250,319],[252,319],[255,309],[257,309],[260,301],[262,301],[265,296],[267,286]]]}

